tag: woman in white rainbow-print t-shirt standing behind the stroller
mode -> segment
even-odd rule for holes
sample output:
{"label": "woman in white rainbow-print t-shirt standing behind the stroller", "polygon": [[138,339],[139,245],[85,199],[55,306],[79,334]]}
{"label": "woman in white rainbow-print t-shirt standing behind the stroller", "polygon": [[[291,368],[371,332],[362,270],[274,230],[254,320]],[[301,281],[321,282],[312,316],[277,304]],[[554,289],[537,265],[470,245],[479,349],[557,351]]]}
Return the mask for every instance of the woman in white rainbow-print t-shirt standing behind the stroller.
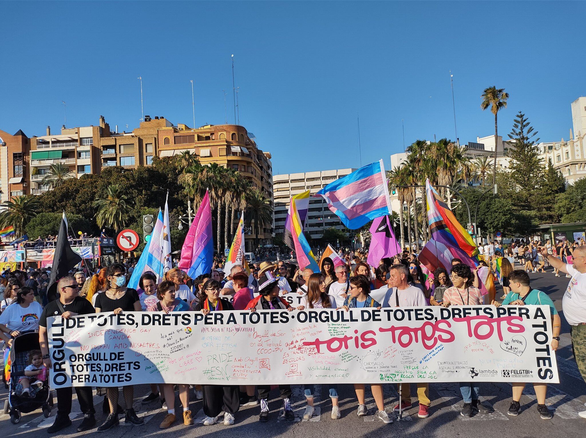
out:
{"label": "woman in white rainbow-print t-shirt standing behind the stroller", "polygon": [[39,318],[43,306],[35,301],[32,289],[20,288],[16,301],[0,315],[0,339],[12,345],[12,339],[25,331],[39,330]]}

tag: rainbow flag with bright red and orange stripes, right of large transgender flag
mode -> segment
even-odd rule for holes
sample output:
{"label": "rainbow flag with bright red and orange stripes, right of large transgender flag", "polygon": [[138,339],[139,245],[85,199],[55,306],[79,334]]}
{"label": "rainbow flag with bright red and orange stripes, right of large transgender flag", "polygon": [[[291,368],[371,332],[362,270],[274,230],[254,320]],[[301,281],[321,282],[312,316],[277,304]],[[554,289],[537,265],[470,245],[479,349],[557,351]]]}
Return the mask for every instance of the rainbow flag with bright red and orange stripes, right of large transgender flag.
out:
{"label": "rainbow flag with bright red and orange stripes, right of large transgender flag", "polygon": [[437,191],[431,187],[430,180],[425,181],[425,194],[427,197],[427,217],[434,240],[448,246],[458,247],[471,257],[477,255],[478,248],[472,236],[464,230],[452,210],[440,198]]}

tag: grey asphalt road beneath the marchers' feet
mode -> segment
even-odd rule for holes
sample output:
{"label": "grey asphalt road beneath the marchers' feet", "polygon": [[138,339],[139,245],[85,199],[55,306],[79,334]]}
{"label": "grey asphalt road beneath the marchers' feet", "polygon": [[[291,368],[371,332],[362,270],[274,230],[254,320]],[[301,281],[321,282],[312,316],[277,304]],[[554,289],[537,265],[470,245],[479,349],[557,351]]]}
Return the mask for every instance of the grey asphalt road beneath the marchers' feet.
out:
{"label": "grey asphalt road beneath the marchers' feet", "polygon": [[[492,405],[494,413],[488,415],[476,415],[472,418],[464,418],[459,415],[462,405],[462,398],[456,384],[432,384],[430,386],[431,415],[427,419],[417,417],[417,398],[413,390],[414,407],[407,411],[407,420],[393,424],[384,424],[376,419],[376,407],[372,397],[367,398],[369,416],[357,417],[357,402],[352,385],[340,385],[339,402],[342,418],[332,420],[332,404],[328,398],[326,386],[315,385],[316,415],[311,420],[302,420],[305,409],[305,397],[302,386],[293,387],[293,408],[295,409],[295,422],[279,420],[278,410],[281,407],[278,399],[278,391],[272,391],[270,401],[271,417],[268,423],[258,422],[258,406],[250,406],[241,409],[236,413],[236,423],[233,426],[214,425],[203,426],[197,423],[203,419],[202,402],[195,401],[192,392],[192,409],[196,418],[193,426],[184,426],[179,420],[169,429],[159,429],[159,423],[165,416],[165,411],[160,409],[158,402],[149,405],[141,405],[140,400],[150,391],[147,385],[139,385],[135,388],[135,409],[139,416],[144,416],[143,426],[121,426],[115,427],[107,432],[108,438],[132,438],[144,437],[156,434],[163,438],[167,436],[179,436],[189,434],[190,436],[206,436],[218,438],[230,438],[242,436],[303,436],[303,437],[376,437],[389,436],[390,434],[411,434],[425,437],[471,437],[471,436],[518,436],[518,437],[568,437],[583,438],[586,420],[578,417],[577,412],[586,410],[586,384],[580,377],[576,367],[571,349],[569,327],[561,313],[561,299],[567,286],[568,279],[556,277],[551,271],[547,273],[531,273],[532,286],[546,292],[556,304],[560,311],[563,322],[560,349],[557,353],[558,368],[560,371],[560,384],[552,385],[547,392],[548,408],[554,413],[551,420],[541,420],[536,410],[536,399],[533,388],[529,385],[521,399],[522,413],[517,417],[506,415],[511,401],[511,387],[506,383],[481,384],[481,400],[486,405]],[[500,290],[498,291],[500,292]],[[502,295],[498,293],[498,295]],[[322,394],[323,396],[319,396]],[[368,393],[369,394],[369,393]],[[398,401],[397,392],[391,385],[384,385],[385,403],[387,412],[390,412]],[[6,399],[6,391],[0,392],[2,405]],[[120,400],[123,401],[122,395]],[[102,397],[95,396],[94,403],[98,408],[98,424],[105,419],[101,413]],[[179,400],[176,406],[180,406]],[[178,410],[179,412],[179,410]],[[55,410],[50,418],[45,419],[40,412],[31,412],[22,416],[21,422],[12,425],[8,415],[0,414],[0,430],[3,437],[19,436],[22,438],[37,438],[45,436],[46,427],[52,425]],[[79,405],[73,402],[71,419],[73,426],[62,430],[54,436],[80,435],[75,428],[81,422]],[[391,418],[394,418],[393,415]],[[94,433],[86,432],[86,433]]]}

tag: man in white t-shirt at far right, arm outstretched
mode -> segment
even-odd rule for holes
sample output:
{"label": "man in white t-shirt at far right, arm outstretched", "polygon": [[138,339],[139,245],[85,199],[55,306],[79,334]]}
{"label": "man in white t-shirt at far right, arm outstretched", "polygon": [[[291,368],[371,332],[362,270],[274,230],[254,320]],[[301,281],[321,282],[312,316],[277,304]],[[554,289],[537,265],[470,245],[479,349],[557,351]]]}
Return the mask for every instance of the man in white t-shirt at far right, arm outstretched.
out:
{"label": "man in white t-shirt at far right, arm outstretched", "polygon": [[[546,247],[540,247],[539,251],[554,269],[572,276],[561,301],[561,309],[564,312],[565,320],[570,324],[574,358],[578,365],[578,371],[580,371],[582,379],[586,381],[586,247],[574,248],[572,252],[573,265],[565,264],[553,254],[549,254]],[[578,412],[578,415],[586,419],[586,410]]]}

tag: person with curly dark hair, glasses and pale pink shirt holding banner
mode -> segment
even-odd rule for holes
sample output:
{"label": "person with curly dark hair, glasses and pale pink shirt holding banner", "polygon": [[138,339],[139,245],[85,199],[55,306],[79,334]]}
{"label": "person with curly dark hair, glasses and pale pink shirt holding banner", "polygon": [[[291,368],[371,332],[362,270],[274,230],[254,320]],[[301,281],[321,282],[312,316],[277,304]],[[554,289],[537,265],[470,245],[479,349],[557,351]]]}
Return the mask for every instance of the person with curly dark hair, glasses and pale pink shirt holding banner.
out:
{"label": "person with curly dark hair, glasses and pale pink shirt holding banner", "polygon": [[[472,286],[474,274],[468,265],[463,263],[452,266],[451,276],[454,286],[444,292],[442,306],[481,306],[483,303],[480,289]],[[491,409],[483,406],[478,400],[480,385],[478,382],[461,382],[460,392],[464,399],[464,406],[460,415],[471,417],[473,412],[490,413]]]}

